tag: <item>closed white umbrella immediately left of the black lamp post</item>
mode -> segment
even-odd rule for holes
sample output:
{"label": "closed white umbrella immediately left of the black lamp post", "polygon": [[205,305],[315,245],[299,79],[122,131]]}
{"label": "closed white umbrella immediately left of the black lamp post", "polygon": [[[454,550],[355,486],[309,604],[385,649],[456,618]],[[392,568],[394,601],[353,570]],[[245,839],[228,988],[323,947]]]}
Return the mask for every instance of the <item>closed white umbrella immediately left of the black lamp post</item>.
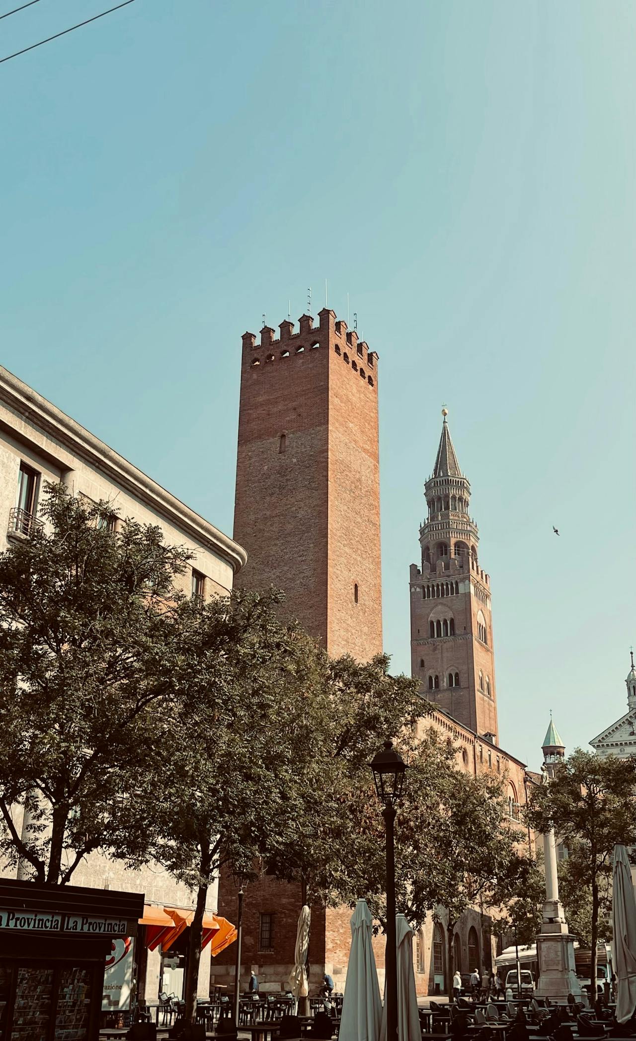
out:
{"label": "closed white umbrella immediately left of the black lamp post", "polygon": [[371,936],[371,911],[366,900],[358,900],[351,917],[351,950],[339,1041],[378,1041],[380,1037],[382,1001]]}

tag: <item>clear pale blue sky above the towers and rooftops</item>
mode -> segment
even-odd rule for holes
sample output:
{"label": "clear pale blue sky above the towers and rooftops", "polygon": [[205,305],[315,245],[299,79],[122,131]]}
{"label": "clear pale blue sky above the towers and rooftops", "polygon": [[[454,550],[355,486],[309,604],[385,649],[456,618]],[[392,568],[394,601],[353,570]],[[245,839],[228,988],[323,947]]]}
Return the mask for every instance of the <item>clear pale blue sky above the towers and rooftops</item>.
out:
{"label": "clear pale blue sky above the towers and rooftops", "polygon": [[[109,5],[42,0],[2,55]],[[633,0],[136,0],[0,66],[2,362],[231,532],[240,334],[349,293],[386,649],[408,669],[446,401],[535,766],[550,708],[570,748],[622,714],[636,642],[635,30]]]}

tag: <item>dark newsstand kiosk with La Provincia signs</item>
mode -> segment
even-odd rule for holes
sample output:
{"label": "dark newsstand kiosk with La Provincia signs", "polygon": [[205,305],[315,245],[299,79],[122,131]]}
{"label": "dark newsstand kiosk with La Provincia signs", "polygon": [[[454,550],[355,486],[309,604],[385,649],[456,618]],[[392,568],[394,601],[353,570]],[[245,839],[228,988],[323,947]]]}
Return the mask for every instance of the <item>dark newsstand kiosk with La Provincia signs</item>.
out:
{"label": "dark newsstand kiosk with La Provincia signs", "polygon": [[0,879],[0,1041],[95,1041],[106,957],[144,895]]}

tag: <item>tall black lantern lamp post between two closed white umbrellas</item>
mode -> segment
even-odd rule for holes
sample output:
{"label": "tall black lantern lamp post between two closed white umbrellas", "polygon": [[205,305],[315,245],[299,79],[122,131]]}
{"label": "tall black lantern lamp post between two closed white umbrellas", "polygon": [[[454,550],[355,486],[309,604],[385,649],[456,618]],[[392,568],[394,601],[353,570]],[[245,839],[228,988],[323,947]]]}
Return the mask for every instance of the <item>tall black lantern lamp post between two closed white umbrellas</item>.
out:
{"label": "tall black lantern lamp post between two closed white umbrellas", "polygon": [[404,787],[406,763],[393,748],[392,741],[385,741],[382,752],[371,764],[378,798],[383,804],[382,816],[386,826],[386,1041],[398,1041],[398,944],[396,939],[396,846],[393,826],[396,806]]}

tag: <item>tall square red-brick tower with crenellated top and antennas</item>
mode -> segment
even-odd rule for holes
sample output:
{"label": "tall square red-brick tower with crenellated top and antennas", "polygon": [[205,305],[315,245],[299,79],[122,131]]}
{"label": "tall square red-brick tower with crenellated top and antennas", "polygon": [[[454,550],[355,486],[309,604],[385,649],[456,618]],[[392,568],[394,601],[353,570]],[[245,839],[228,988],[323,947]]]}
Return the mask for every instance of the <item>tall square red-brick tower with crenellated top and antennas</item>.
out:
{"label": "tall square red-brick tower with crenellated top and antennas", "polygon": [[[285,593],[297,617],[330,655],[366,661],[382,651],[378,356],[325,308],[313,328],[264,327],[243,337],[234,537],[248,551],[236,585]],[[241,977],[255,967],[261,989],[287,987],[300,886],[264,877],[245,900]],[[236,889],[222,872],[219,911],[235,921]],[[341,987],[349,909],[311,910],[311,992],[324,972]],[[377,954],[381,954],[378,943]],[[213,983],[234,985],[234,947],[212,965]]]}

